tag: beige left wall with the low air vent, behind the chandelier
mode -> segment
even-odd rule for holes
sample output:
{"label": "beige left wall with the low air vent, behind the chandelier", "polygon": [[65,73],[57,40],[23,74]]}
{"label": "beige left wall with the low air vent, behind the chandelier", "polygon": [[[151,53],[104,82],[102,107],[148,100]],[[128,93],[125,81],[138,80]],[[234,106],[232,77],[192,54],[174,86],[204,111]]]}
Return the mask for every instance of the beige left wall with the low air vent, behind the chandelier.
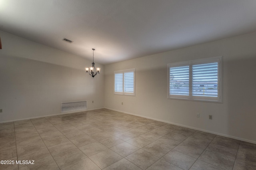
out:
{"label": "beige left wall with the low air vent, behind the chandelier", "polygon": [[[83,59],[0,31],[0,122],[60,114],[60,103],[104,107],[104,65],[94,78]],[[94,103],[92,103],[92,100]]]}

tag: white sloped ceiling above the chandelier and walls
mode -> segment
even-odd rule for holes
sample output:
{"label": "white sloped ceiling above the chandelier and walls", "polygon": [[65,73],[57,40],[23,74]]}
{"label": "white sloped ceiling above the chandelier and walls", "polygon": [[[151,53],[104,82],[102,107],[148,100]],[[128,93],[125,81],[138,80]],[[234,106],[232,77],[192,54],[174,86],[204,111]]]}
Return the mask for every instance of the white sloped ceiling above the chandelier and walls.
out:
{"label": "white sloped ceiling above the chandelier and walls", "polygon": [[254,32],[256,0],[0,0],[0,30],[108,64]]}

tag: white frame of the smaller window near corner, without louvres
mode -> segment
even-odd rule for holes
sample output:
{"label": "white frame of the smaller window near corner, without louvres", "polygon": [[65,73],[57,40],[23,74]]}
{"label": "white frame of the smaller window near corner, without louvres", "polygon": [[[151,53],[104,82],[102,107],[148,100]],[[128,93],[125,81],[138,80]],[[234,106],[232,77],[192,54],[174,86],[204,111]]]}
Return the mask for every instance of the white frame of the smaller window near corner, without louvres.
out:
{"label": "white frame of the smaller window near corner, without louvres", "polygon": [[[124,79],[124,74],[125,73],[130,73],[133,72],[133,92],[125,92],[124,91],[124,86],[125,86],[125,79]],[[116,74],[122,73],[123,79],[122,79],[122,92],[116,91]],[[119,71],[114,71],[114,95],[128,95],[128,96],[135,96],[135,68],[134,69],[126,69],[126,70],[119,70]]]}

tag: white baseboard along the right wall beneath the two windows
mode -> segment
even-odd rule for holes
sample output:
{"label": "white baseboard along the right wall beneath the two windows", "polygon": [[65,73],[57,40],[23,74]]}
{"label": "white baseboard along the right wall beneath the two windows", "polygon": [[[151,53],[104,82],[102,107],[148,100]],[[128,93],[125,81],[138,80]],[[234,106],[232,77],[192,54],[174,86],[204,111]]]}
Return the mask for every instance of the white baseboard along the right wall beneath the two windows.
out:
{"label": "white baseboard along the right wall beneath the two windows", "polygon": [[[110,108],[107,108],[107,107],[105,107],[105,109],[109,109],[109,110],[112,110],[112,111],[118,111],[118,110],[110,109]],[[204,129],[195,128],[195,127],[190,127],[190,126],[181,125],[181,124],[178,124],[178,123],[173,123],[173,122],[168,122],[168,121],[163,121],[163,120],[160,120],[160,119],[154,119],[154,118],[146,117],[146,116],[142,116],[142,115],[136,115],[136,114],[128,113],[128,112],[124,112],[124,111],[118,111],[118,112],[126,113],[126,114],[129,114],[129,115],[134,115],[134,116],[138,116],[138,117],[144,117],[144,118],[147,118],[147,119],[152,119],[154,121],[160,121],[160,122],[168,123],[168,124],[171,124],[171,125],[177,125],[177,126],[180,126],[180,127],[192,128],[194,130],[200,130],[200,131],[203,131],[203,132],[217,134],[217,135],[220,135],[220,136],[225,136],[225,137],[228,137],[228,138],[233,138],[233,139],[237,139],[237,140],[242,140],[244,142],[250,142],[250,143],[256,144],[256,141],[248,140],[248,139],[244,139],[244,138],[238,138],[236,136],[230,136],[230,135],[227,135],[227,134],[222,134],[222,133],[218,133],[218,132],[212,132],[212,131],[209,131],[209,130],[204,130]]]}

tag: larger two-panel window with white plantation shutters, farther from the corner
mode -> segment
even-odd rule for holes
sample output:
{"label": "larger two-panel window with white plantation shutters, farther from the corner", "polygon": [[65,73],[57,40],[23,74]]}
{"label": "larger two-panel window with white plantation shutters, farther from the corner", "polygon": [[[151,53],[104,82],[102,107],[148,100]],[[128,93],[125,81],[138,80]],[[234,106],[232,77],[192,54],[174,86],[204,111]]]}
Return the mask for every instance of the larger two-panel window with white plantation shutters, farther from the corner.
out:
{"label": "larger two-panel window with white plantation shutters, farther from the corner", "polygon": [[222,57],[168,64],[168,98],[222,102]]}

